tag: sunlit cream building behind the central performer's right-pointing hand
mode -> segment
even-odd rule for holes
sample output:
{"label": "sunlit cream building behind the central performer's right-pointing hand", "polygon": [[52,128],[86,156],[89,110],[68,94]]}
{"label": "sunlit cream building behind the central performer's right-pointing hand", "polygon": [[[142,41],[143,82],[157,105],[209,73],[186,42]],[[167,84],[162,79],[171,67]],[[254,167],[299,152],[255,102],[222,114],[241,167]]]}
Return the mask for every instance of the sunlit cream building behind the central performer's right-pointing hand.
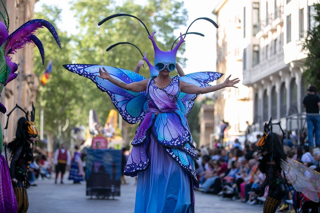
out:
{"label": "sunlit cream building behind the central performer's right-pointing hand", "polygon": [[[218,137],[219,123],[228,123],[225,138],[233,140],[238,135],[244,135],[247,128],[246,121],[253,122],[253,93],[252,87],[243,85],[242,51],[243,31],[239,8],[244,1],[222,0],[213,11],[217,15],[219,28],[217,30],[217,72],[224,75],[217,83],[222,83],[231,74],[239,78],[239,88],[228,87],[214,93],[214,127]],[[245,1],[247,2],[247,1]],[[248,2],[252,2],[251,0]]]}

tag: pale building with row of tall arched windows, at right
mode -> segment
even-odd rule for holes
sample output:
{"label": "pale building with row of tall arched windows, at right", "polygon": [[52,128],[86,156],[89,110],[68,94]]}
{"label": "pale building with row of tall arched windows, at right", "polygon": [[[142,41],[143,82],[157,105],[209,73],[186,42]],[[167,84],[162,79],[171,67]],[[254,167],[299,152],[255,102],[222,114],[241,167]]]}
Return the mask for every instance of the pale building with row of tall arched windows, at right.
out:
{"label": "pale building with row of tall arched windows, at right", "polygon": [[272,117],[287,131],[301,130],[308,87],[302,42],[315,25],[316,0],[241,2],[243,84],[253,88],[253,128],[261,130]]}

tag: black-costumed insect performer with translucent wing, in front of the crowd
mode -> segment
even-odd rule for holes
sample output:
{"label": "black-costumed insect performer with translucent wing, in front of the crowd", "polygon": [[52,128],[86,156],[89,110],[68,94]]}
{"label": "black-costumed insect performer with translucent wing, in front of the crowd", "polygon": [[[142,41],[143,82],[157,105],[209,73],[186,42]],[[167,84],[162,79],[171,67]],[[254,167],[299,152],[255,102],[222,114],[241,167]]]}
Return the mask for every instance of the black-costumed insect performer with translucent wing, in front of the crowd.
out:
{"label": "black-costumed insect performer with translucent wing, in front of the crowd", "polygon": [[[284,153],[283,141],[279,140],[276,133],[272,132],[271,119],[264,126],[264,133],[257,142],[260,150],[259,169],[266,174],[266,179],[253,191],[262,196],[268,186],[268,196],[263,207],[264,213],[274,213],[287,193],[287,180],[295,190],[303,193],[314,202],[319,202],[320,173],[309,169]],[[280,129],[284,135],[281,126]],[[281,175],[283,172],[284,176]]]}

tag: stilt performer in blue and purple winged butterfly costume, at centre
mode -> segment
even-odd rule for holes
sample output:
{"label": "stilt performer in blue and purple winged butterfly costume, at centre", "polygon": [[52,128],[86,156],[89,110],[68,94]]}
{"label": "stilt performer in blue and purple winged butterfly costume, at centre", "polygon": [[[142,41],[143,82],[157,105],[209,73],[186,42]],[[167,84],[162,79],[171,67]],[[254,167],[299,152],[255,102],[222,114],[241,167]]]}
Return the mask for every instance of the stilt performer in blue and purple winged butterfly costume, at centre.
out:
{"label": "stilt performer in blue and purple winged butterfly costume, at centre", "polygon": [[[138,19],[129,14],[114,14],[100,21],[99,25],[119,16]],[[211,19],[198,19],[210,21],[218,28]],[[159,77],[160,74],[167,75],[175,69],[176,53],[184,38],[180,34],[175,48],[164,52],[157,47],[154,40],[156,32],[150,34],[147,27],[144,27],[155,51],[154,67],[159,72]],[[210,86],[203,80],[175,76],[169,85],[160,88],[156,86],[154,77],[146,80],[143,76],[122,68],[85,64],[63,66],[70,72],[91,79],[101,91],[107,92],[125,121],[130,124],[141,121],[124,169],[124,174],[128,176],[134,177],[139,173],[135,212],[193,212],[193,187],[199,187],[199,183],[194,164],[197,156],[186,117],[196,94],[184,93],[180,88],[183,88],[183,85],[192,87],[198,89],[197,91],[201,90],[197,93],[200,94],[231,87],[231,84],[233,86],[238,81],[226,80],[224,85]],[[105,74],[109,74],[108,79],[102,78],[100,67],[105,70]],[[162,71],[164,72],[161,73]],[[220,77],[221,74],[216,76]],[[141,92],[134,92],[133,90],[138,89],[133,85],[143,85]]]}

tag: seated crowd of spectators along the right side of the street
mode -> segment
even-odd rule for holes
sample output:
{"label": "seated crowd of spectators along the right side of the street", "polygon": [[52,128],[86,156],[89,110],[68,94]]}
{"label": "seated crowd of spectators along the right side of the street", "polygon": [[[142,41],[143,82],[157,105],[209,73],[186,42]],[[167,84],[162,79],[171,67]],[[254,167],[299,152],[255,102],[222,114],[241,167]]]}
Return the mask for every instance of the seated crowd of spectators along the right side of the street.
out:
{"label": "seated crowd of spectators along the right side of the street", "polygon": [[[284,145],[284,151],[288,157],[312,170],[319,171],[319,148],[312,149],[306,145],[293,145],[292,147]],[[236,140],[233,146],[223,147],[216,142],[213,149],[202,147],[196,152],[199,156],[195,164],[200,191],[219,194],[233,200],[240,199],[241,202],[250,204],[259,204],[265,200],[263,197],[251,196],[252,188],[256,188],[265,178],[258,168],[260,155],[255,143],[245,142],[241,146]],[[308,201],[303,194],[297,193],[290,185],[287,192],[279,211],[296,212],[296,209],[301,208],[302,212],[308,212],[303,211],[302,204]],[[268,187],[266,187],[264,196],[266,197],[267,194]],[[293,205],[289,206],[289,203]],[[312,202],[312,205],[318,208],[319,203]]]}

